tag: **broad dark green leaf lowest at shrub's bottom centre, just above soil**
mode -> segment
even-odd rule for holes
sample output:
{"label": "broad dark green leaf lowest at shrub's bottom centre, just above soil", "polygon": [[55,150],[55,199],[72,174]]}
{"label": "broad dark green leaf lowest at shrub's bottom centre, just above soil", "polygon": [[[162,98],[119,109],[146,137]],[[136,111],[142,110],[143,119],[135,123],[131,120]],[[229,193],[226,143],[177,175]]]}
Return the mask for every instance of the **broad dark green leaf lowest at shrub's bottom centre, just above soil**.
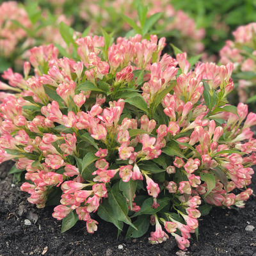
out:
{"label": "broad dark green leaf lowest at shrub's bottom centre, just above soil", "polygon": [[138,219],[134,221],[133,225],[137,228],[137,230],[129,227],[125,238],[137,238],[143,236],[147,232],[150,225],[150,216],[139,216]]}

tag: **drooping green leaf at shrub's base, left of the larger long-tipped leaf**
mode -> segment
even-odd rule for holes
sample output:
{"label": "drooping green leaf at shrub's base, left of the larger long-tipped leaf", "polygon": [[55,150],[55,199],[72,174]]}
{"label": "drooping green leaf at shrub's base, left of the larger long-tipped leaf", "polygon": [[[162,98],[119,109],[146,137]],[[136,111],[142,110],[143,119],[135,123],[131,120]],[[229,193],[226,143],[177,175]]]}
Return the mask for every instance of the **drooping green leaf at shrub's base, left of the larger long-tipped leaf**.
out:
{"label": "drooping green leaf at shrub's base, left of the larger long-tipped leaf", "polygon": [[97,214],[102,218],[104,221],[108,221],[113,223],[119,230],[122,230],[122,227],[120,225],[120,221],[118,221],[115,218],[115,212],[113,212],[113,209],[111,205],[109,205],[109,200],[104,199],[102,204],[100,204]]}

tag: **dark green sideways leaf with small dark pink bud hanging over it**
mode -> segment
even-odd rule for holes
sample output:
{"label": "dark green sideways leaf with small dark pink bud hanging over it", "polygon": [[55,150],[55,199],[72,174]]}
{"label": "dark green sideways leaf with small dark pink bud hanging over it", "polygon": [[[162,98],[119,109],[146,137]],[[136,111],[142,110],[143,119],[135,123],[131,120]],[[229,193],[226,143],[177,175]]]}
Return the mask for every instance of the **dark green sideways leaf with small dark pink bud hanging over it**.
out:
{"label": "dark green sideways leaf with small dark pink bud hanging over it", "polygon": [[170,198],[164,197],[161,199],[157,199],[157,204],[159,204],[159,207],[157,207],[157,208],[152,208],[153,202],[154,201],[153,201],[152,197],[145,200],[143,202],[143,204],[141,205],[140,211],[138,211],[134,215],[132,215],[132,218],[136,217],[136,216],[140,216],[142,214],[155,214],[156,212],[161,211],[164,207],[166,207],[166,205],[170,204]]}

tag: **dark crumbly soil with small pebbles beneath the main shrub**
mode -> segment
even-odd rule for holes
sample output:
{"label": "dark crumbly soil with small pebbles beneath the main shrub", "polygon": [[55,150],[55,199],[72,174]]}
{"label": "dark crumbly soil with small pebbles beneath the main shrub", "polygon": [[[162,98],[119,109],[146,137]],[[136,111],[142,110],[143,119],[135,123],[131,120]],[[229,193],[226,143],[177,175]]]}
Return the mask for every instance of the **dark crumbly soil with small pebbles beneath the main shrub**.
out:
{"label": "dark crumbly soil with small pebbles beneath the main shrub", "polygon": [[[75,227],[61,234],[61,221],[52,218],[53,207],[36,209],[26,200],[27,193],[12,184],[12,175],[6,172],[12,163],[0,165],[0,256],[46,255],[244,255],[256,256],[256,228],[246,231],[246,226],[256,227],[256,200],[252,196],[244,209],[212,209],[201,218],[199,236],[191,239],[188,252],[179,250],[175,239],[166,243],[148,243],[148,232],[139,239],[116,239],[116,228],[102,220],[94,234],[86,232],[85,223],[78,221]],[[256,191],[256,179],[252,182]],[[24,221],[30,220],[31,225]],[[119,247],[119,248],[118,248]]]}

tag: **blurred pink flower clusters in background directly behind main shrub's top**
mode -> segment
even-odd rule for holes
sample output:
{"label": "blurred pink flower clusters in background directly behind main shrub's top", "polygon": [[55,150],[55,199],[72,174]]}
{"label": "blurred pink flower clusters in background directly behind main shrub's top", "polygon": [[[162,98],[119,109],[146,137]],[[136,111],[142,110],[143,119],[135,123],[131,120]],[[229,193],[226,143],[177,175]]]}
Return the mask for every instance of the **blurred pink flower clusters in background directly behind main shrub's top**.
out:
{"label": "blurred pink flower clusters in background directly behind main shrub's top", "polygon": [[[182,44],[184,51],[193,54],[204,51],[204,44],[201,41],[205,36],[205,31],[203,28],[197,29],[195,20],[191,19],[187,13],[182,10],[176,11],[168,0],[143,0],[142,3],[148,6],[148,17],[155,13],[163,13],[157,23],[157,29],[174,37],[177,40],[175,44]],[[127,15],[138,22],[137,6],[138,1],[134,0],[105,1],[103,4],[98,0],[90,1],[90,3],[83,1],[80,6],[80,16],[92,26],[94,33],[99,31],[100,26],[103,28],[115,26],[115,30],[120,34],[121,31],[131,30],[131,26],[122,20],[121,15]]]}

